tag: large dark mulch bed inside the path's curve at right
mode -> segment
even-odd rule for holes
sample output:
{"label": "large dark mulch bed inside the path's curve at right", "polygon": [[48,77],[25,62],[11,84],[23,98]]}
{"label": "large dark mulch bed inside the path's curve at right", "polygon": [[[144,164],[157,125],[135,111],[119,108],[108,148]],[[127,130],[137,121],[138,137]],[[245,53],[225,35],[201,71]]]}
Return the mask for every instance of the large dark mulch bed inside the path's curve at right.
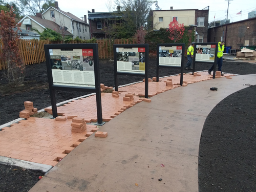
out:
{"label": "large dark mulch bed inside the path's curve at right", "polygon": [[256,191],[256,86],[223,99],[207,117],[199,148],[199,191]]}

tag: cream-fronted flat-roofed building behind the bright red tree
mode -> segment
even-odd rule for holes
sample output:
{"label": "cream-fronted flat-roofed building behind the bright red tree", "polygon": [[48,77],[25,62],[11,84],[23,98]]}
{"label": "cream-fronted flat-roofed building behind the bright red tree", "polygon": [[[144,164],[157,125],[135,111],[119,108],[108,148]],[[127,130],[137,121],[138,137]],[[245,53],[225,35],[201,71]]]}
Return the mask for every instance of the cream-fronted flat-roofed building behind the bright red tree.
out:
{"label": "cream-fronted flat-roofed building behind the bright red tree", "polygon": [[[207,8],[207,9],[206,9]],[[160,28],[168,28],[170,22],[175,18],[178,23],[184,26],[194,26],[196,29],[196,42],[207,42],[208,15],[209,9],[173,9],[151,11],[150,26],[159,30]]]}

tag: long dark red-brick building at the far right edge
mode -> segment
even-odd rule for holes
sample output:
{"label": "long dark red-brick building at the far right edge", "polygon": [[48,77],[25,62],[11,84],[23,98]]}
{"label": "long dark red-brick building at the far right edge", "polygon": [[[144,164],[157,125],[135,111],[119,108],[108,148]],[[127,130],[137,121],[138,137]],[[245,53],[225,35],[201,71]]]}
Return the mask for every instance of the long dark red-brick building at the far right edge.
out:
{"label": "long dark red-brick building at the far right edge", "polygon": [[208,29],[208,42],[224,39],[226,46],[240,49],[240,46],[256,46],[256,17]]}

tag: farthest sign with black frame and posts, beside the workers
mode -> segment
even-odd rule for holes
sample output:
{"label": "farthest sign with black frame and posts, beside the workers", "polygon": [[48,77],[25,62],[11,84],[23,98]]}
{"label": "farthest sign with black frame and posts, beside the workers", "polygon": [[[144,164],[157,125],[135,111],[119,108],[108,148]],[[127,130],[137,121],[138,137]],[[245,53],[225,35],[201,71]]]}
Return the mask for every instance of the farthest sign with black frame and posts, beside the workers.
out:
{"label": "farthest sign with black frame and posts, beside the workers", "polygon": [[[197,50],[197,46],[200,46],[202,48]],[[215,51],[212,51],[211,49],[214,49],[214,48],[215,48]],[[199,51],[200,53],[197,53],[197,51]],[[205,51],[205,52],[208,51],[208,53],[204,53],[203,51]],[[209,58],[214,57],[214,59],[212,59],[212,61],[210,61],[211,59],[199,59],[199,58],[196,58],[197,54],[209,55]],[[213,74],[212,78],[215,79],[217,55],[218,55],[218,42],[196,42],[195,47],[194,47],[192,74],[194,75],[195,68],[196,68],[196,62],[211,63],[211,65],[214,64],[214,74]]]}

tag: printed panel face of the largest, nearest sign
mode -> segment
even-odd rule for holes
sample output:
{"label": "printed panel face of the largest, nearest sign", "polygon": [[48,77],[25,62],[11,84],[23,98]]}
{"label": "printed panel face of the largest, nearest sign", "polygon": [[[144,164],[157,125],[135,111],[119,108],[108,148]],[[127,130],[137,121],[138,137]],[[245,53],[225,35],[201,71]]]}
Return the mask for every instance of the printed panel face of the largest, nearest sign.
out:
{"label": "printed panel face of the largest, nearest sign", "polygon": [[51,50],[53,84],[95,88],[92,49]]}

